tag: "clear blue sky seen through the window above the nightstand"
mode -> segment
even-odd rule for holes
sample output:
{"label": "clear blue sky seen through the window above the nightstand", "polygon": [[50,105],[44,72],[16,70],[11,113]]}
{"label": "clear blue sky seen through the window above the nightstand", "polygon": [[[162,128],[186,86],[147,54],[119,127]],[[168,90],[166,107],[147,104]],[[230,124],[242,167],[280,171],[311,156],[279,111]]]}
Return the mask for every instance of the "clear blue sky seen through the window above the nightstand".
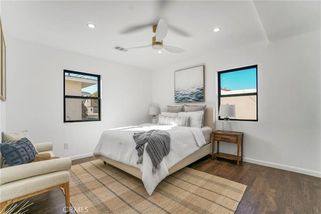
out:
{"label": "clear blue sky seen through the window above the nightstand", "polygon": [[221,88],[232,91],[256,89],[256,68],[221,74]]}

